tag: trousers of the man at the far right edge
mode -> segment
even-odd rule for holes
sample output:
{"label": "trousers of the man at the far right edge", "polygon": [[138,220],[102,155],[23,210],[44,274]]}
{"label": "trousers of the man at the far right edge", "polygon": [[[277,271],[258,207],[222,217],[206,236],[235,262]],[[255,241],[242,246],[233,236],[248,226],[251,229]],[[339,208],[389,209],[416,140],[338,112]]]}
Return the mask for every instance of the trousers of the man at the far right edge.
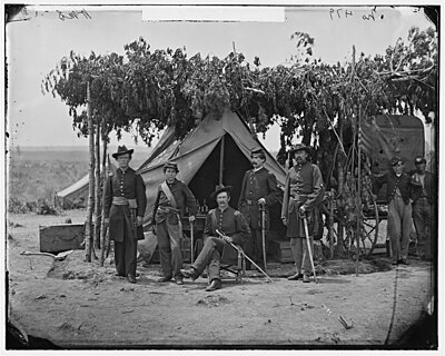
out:
{"label": "trousers of the man at the far right edge", "polygon": [[413,220],[417,235],[417,253],[419,256],[431,259],[433,208],[427,198],[418,198],[413,204]]}

